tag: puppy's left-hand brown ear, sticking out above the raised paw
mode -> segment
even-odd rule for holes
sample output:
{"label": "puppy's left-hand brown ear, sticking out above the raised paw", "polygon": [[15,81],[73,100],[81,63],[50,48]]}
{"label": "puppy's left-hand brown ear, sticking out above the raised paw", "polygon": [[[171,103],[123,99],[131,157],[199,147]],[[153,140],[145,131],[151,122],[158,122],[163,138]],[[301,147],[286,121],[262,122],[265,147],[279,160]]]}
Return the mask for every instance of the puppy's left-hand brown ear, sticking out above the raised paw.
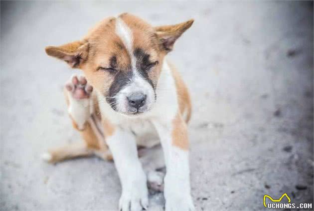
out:
{"label": "puppy's left-hand brown ear, sticking out above the raised paw", "polygon": [[61,46],[47,46],[45,50],[49,56],[64,60],[72,68],[80,68],[81,64],[87,59],[88,42],[84,40]]}

